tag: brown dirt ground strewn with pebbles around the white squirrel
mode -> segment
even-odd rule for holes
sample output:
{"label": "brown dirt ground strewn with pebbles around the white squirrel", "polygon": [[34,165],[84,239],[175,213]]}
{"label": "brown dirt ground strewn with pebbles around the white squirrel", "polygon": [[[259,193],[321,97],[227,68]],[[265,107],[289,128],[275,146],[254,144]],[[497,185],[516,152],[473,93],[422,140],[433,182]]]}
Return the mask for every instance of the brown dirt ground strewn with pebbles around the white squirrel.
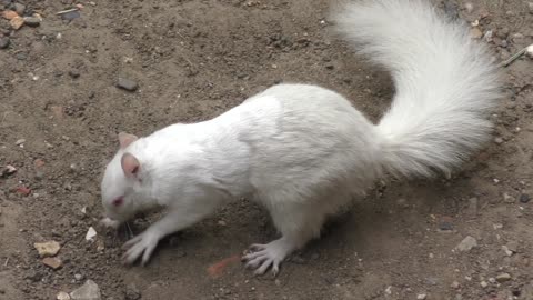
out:
{"label": "brown dirt ground strewn with pebbles around the white squirrel", "polygon": [[[376,120],[390,104],[390,78],[333,38],[328,0],[20,3],[43,20],[18,31],[0,20],[10,39],[0,49],[0,167],[17,169],[0,178],[0,299],[56,299],[89,279],[114,300],[533,299],[533,60],[505,69],[494,142],[461,172],[378,182],[278,278],[254,278],[238,261],[208,271],[275,237],[268,213],[247,200],[165,239],[147,267],[128,268],[125,234],[98,227],[117,132],[205,120],[281,81],[336,90]],[[80,18],[56,14],[76,3]],[[473,36],[499,61],[533,42],[527,0],[440,4],[477,20]],[[139,89],[117,88],[119,77]],[[455,249],[469,236],[477,246]],[[50,240],[61,244],[58,270],[33,247]]]}

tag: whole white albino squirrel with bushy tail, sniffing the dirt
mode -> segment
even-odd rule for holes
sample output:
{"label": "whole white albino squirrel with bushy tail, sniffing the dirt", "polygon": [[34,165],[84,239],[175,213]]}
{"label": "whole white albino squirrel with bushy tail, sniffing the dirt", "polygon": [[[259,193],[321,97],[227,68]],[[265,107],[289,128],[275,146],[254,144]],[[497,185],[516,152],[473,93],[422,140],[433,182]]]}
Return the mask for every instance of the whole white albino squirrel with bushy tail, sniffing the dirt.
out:
{"label": "whole white albino squirrel with bushy tail, sniffing the dirt", "polygon": [[265,207],[281,238],[252,244],[247,266],[276,273],[318,237],[328,216],[374,180],[450,172],[485,142],[500,98],[496,67],[462,23],[425,0],[352,2],[338,32],[392,73],[392,107],[371,123],[341,94],[278,84],[204,122],[144,138],[120,133],[102,181],[108,226],[164,207],[165,216],[124,247],[144,264],[158,241],[245,197]]}

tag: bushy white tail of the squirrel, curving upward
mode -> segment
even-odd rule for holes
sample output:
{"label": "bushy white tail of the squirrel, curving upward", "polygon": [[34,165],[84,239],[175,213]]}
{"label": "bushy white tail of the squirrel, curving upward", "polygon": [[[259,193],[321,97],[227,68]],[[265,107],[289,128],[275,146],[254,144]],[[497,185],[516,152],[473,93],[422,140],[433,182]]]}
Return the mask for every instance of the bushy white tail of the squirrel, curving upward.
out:
{"label": "bushy white tail of the squirrel, curving upward", "polygon": [[386,170],[449,173],[486,141],[499,76],[466,27],[426,0],[353,2],[334,17],[340,33],[392,72],[395,96],[378,124]]}

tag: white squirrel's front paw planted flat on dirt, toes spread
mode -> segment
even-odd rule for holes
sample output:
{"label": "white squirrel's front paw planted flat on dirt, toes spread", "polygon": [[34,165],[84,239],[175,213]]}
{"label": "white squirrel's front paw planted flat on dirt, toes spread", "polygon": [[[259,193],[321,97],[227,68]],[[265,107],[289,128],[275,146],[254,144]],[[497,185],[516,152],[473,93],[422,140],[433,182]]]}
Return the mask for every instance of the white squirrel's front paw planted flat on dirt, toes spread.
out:
{"label": "white squirrel's front paw planted flat on dirt, toes spread", "polygon": [[153,232],[142,232],[124,243],[122,248],[128,249],[128,251],[125,251],[122,259],[125,263],[131,264],[142,254],[141,264],[147,264],[159,240],[160,237]]}

